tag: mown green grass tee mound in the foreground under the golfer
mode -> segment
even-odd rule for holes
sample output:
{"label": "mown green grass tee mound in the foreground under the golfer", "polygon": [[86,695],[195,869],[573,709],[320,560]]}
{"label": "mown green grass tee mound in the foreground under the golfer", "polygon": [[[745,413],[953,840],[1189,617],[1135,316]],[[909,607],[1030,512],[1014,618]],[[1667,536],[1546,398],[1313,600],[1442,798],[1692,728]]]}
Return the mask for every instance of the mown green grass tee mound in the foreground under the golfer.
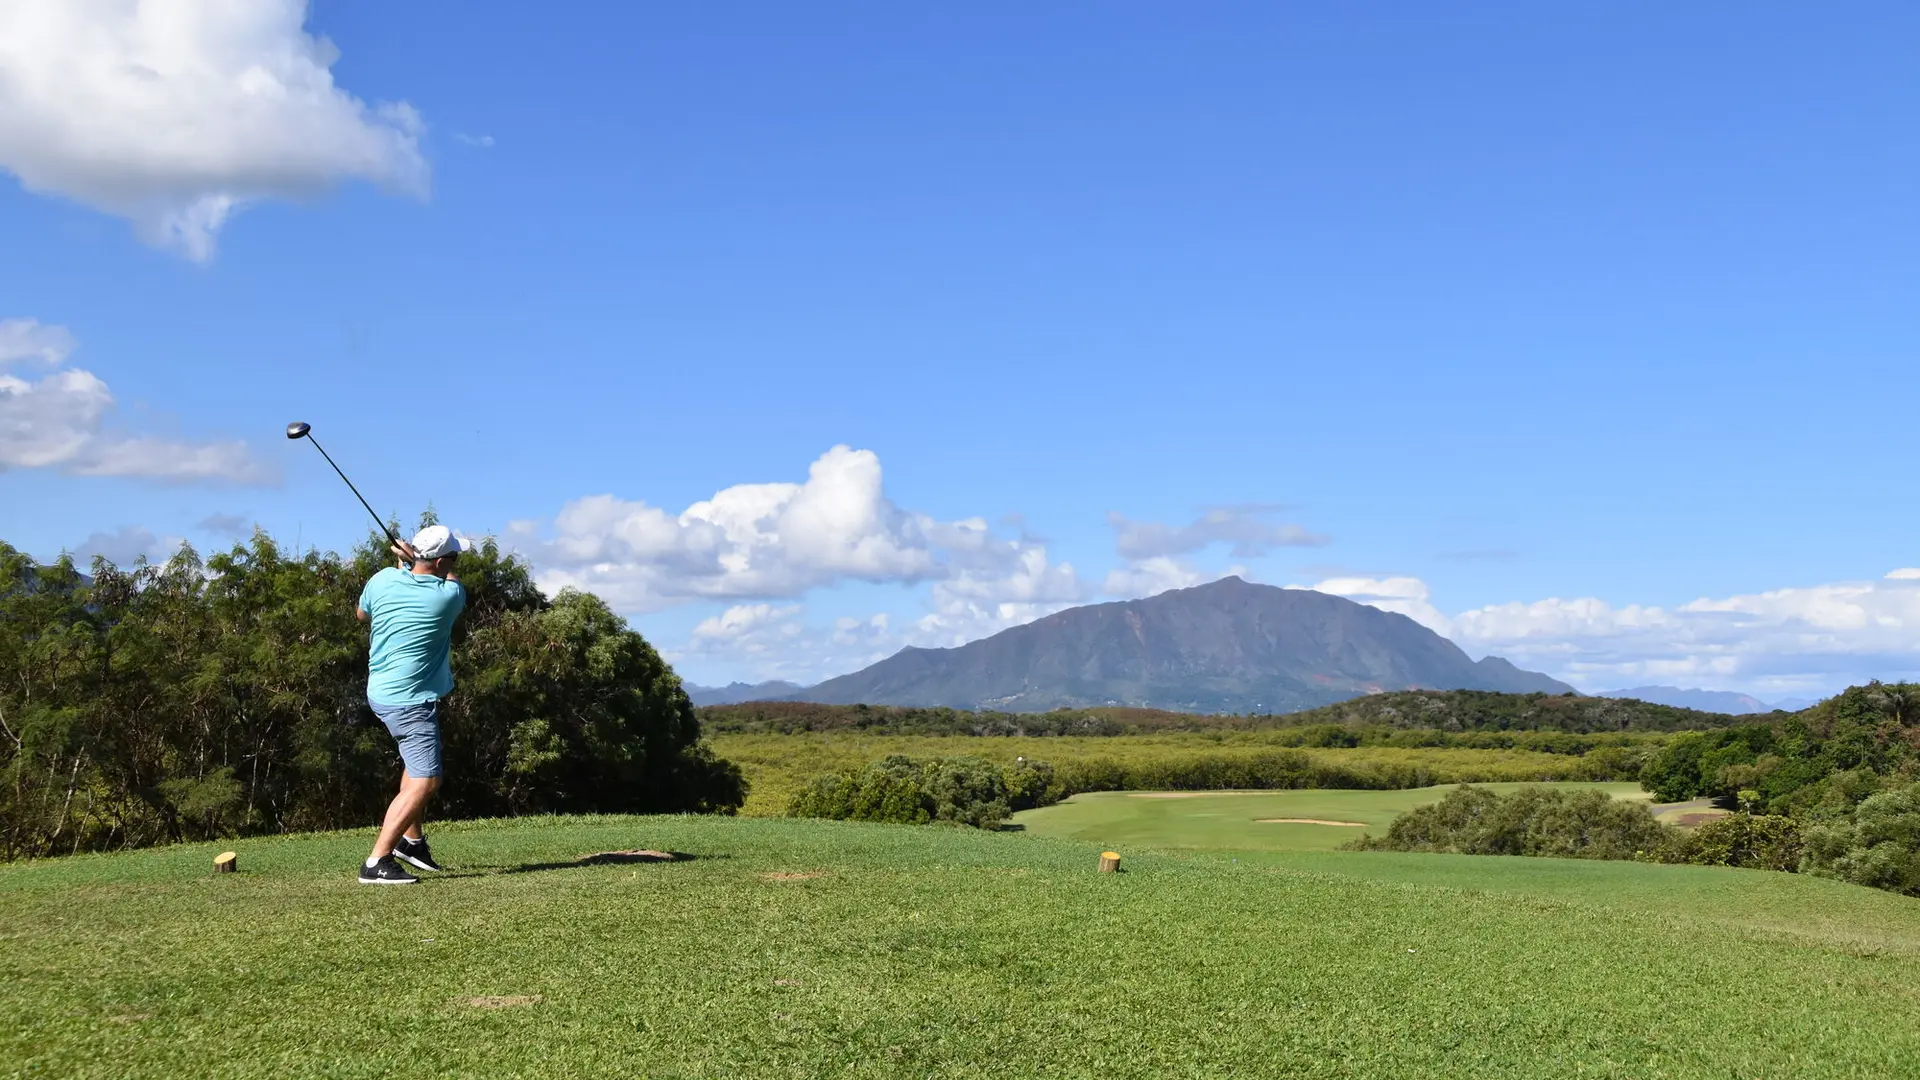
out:
{"label": "mown green grass tee mound in the foreground under the golfer", "polygon": [[[1920,901],[1622,863],[808,821],[447,824],[0,869],[0,1074],[1912,1076]],[[568,865],[666,847],[672,865]],[[774,880],[774,872],[818,872]],[[540,1001],[476,1009],[476,995]]]}

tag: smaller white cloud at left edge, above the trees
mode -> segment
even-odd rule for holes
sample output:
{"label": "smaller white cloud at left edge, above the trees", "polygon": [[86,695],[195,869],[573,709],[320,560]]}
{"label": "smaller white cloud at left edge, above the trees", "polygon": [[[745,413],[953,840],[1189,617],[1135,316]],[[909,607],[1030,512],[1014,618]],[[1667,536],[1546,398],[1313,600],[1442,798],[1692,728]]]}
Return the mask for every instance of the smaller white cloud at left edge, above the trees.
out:
{"label": "smaller white cloud at left edge, above the trees", "polygon": [[73,334],[33,319],[0,321],[0,473],[60,469],[77,477],[140,477],[190,482],[267,482],[273,471],[244,442],[175,442],[113,430],[113,394],[81,367],[38,379],[8,371],[12,363],[60,365]]}

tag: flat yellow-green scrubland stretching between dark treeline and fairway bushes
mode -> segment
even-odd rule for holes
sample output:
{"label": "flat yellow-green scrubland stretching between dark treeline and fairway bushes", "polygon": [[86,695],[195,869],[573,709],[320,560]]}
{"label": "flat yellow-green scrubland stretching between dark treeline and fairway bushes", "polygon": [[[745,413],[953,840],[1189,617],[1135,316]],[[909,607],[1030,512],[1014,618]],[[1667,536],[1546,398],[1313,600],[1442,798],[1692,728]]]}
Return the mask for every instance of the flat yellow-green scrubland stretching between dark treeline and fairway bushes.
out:
{"label": "flat yellow-green scrubland stretching between dark treeline and fairway bushes", "polygon": [[[804,732],[804,734],[712,734],[708,744],[722,757],[739,763],[751,784],[747,817],[778,817],[785,813],[795,792],[822,773],[858,769],[889,753],[939,757],[972,753],[1012,765],[1016,757],[1031,757],[1062,765],[1068,761],[1110,759],[1121,763],[1150,763],[1198,753],[1261,753],[1284,746],[1290,732],[1167,732],[1137,736],[891,736],[862,732]],[[1457,749],[1457,748],[1331,748],[1302,749],[1315,759],[1367,765],[1423,765],[1450,782],[1519,782],[1565,780],[1580,759],[1567,753],[1538,753],[1528,749]]]}

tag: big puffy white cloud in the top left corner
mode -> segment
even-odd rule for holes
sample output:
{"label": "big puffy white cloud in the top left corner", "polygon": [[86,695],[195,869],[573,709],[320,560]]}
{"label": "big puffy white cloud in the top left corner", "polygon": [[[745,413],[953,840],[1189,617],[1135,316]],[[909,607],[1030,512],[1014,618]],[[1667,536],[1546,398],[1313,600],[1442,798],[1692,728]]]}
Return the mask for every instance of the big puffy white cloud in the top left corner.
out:
{"label": "big puffy white cloud in the top left corner", "polygon": [[334,83],[303,0],[0,2],[0,169],[213,254],[250,202],[371,181],[424,196],[420,115]]}

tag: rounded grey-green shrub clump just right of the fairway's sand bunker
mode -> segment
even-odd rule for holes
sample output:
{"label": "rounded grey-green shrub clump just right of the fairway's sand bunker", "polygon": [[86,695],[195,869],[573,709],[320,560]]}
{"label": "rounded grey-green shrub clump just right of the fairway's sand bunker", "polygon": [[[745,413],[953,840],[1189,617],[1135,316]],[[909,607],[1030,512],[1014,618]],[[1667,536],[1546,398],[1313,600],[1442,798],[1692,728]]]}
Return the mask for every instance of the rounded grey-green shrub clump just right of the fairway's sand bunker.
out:
{"label": "rounded grey-green shrub clump just right of the fairway's sand bunker", "polygon": [[1511,796],[1496,796],[1469,784],[1436,803],[1400,815],[1382,836],[1356,840],[1350,847],[1634,859],[1665,846],[1668,832],[1644,803],[1615,799],[1605,792],[1521,788]]}

